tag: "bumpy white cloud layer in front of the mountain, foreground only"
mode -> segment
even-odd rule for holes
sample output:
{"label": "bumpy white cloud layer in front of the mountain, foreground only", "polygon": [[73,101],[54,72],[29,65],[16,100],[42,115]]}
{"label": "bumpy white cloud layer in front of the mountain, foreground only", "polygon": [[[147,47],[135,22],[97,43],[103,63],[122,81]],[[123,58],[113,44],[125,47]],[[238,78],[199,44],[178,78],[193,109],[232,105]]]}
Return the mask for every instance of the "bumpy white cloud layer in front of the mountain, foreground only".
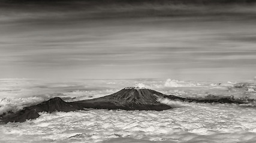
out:
{"label": "bumpy white cloud layer in front of the mountain, foreground only", "polygon": [[[41,113],[0,125],[1,142],[255,142],[255,108],[189,104],[165,111]],[[15,138],[14,138],[15,136]]]}

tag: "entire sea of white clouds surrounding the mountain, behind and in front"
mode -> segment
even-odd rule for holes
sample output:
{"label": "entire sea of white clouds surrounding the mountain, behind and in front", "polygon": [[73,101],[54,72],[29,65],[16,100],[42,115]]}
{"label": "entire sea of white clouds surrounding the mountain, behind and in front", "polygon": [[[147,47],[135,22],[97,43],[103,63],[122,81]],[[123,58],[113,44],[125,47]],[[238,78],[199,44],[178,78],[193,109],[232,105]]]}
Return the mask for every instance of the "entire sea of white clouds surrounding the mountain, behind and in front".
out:
{"label": "entire sea of white clouds surrounding the mountain, behind and in front", "polygon": [[[235,98],[256,98],[254,90],[235,88],[236,82],[2,79],[0,83],[0,114],[57,96],[65,101],[102,97],[125,86],[140,86],[180,97],[234,95]],[[164,98],[159,101],[174,108],[40,113],[41,116],[34,120],[0,125],[0,142],[256,142],[254,106],[199,104]]]}

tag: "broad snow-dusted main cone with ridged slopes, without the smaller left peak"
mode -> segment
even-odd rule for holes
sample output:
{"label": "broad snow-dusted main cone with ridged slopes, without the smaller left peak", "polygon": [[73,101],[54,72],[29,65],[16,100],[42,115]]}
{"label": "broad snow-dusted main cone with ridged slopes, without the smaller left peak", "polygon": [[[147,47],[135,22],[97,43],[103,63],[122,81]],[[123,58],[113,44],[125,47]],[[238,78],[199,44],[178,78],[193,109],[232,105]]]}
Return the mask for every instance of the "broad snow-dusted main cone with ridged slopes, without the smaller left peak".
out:
{"label": "broad snow-dusted main cone with ridged slopes, without the smaller left peak", "polygon": [[103,108],[109,110],[162,111],[170,109],[171,107],[169,105],[161,104],[157,101],[159,96],[164,96],[164,94],[146,88],[127,87],[105,97],[76,101],[76,103],[83,104],[85,108]]}

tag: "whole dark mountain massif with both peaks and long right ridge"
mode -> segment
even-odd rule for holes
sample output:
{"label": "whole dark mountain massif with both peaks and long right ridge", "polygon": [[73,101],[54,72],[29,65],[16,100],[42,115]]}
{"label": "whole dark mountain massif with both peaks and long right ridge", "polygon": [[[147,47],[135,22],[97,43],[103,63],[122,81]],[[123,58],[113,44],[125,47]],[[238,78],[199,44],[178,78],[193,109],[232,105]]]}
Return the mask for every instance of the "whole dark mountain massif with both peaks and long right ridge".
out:
{"label": "whole dark mountain massif with both peaks and long right ridge", "polygon": [[162,104],[158,98],[168,98],[169,100],[186,101],[186,102],[218,102],[218,103],[234,103],[244,104],[245,102],[236,101],[233,98],[219,99],[192,99],[176,97],[174,95],[164,95],[160,92],[146,88],[128,87],[114,94],[105,97],[95,98],[92,100],[82,100],[74,102],[65,102],[59,97],[51,98],[48,101],[41,102],[37,105],[25,107],[17,113],[2,114],[1,122],[25,122],[29,119],[36,119],[40,115],[38,113],[46,111],[52,113],[54,111],[76,111],[86,110],[86,108],[108,109],[108,110],[168,110],[171,107]]}

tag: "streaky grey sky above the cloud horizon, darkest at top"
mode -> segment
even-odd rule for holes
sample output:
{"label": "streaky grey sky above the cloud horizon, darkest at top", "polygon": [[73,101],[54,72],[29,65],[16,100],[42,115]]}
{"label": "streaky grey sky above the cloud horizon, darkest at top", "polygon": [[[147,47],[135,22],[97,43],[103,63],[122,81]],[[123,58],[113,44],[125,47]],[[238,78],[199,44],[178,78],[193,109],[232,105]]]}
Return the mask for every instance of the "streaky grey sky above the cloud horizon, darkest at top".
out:
{"label": "streaky grey sky above the cloud horizon, darkest at top", "polygon": [[252,79],[255,23],[253,1],[1,1],[0,78]]}

